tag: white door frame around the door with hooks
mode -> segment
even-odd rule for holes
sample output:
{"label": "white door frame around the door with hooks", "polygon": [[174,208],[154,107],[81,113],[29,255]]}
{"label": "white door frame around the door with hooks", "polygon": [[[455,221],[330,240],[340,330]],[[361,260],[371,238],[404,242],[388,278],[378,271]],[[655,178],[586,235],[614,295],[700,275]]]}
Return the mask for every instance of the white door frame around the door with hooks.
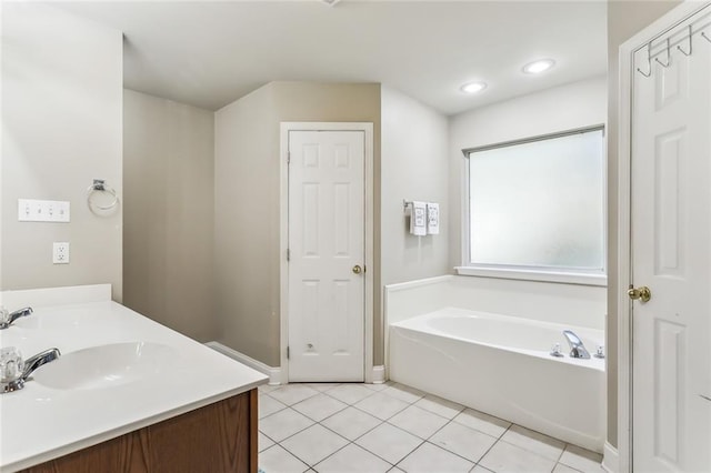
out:
{"label": "white door frame around the door with hooks", "polygon": [[[684,1],[620,46],[619,110],[618,110],[618,469],[632,471],[632,312],[627,286],[632,278],[632,85],[634,53],[650,41],[709,7]],[[608,445],[605,445],[605,451]],[[605,452],[607,453],[607,452]],[[607,460],[607,459],[605,459]],[[607,463],[607,462],[605,462]]]}

